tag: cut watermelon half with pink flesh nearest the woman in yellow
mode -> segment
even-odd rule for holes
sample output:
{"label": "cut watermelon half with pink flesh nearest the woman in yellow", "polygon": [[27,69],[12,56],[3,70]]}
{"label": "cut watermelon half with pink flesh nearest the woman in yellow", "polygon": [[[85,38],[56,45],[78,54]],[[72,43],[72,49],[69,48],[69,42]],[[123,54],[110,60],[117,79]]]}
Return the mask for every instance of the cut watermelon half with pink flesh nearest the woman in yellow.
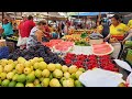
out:
{"label": "cut watermelon half with pink flesh nearest the woman in yellow", "polygon": [[94,44],[91,45],[91,47],[92,47],[94,55],[97,55],[97,56],[108,55],[113,52],[113,47],[111,46],[111,44],[108,44],[108,43],[102,43],[98,45]]}

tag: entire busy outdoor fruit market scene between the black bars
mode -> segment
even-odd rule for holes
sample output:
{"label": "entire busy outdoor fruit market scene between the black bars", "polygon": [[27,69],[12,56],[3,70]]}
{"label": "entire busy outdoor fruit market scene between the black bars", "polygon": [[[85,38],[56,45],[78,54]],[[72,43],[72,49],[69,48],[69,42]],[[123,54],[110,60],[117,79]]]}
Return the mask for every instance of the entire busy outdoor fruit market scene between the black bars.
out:
{"label": "entire busy outdoor fruit market scene between the black bars", "polygon": [[0,87],[132,87],[132,12],[0,12]]}

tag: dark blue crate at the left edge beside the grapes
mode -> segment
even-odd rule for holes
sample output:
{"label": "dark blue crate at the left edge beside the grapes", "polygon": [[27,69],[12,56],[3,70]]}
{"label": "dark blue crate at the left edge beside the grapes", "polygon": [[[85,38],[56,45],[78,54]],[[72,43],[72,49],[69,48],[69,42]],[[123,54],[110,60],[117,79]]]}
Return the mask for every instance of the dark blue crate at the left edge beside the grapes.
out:
{"label": "dark blue crate at the left edge beside the grapes", "polygon": [[8,58],[8,56],[9,56],[9,47],[8,46],[0,47],[0,59]]}

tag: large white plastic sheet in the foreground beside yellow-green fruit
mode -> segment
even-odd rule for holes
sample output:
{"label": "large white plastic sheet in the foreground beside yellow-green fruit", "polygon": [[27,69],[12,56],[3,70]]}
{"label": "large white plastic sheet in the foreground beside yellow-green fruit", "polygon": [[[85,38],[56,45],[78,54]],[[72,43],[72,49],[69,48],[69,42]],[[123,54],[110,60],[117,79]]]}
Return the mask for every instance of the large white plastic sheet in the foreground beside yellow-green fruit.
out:
{"label": "large white plastic sheet in the foreground beside yellow-green fruit", "polygon": [[122,74],[95,68],[81,74],[79,81],[86,87],[118,87],[119,84],[125,82],[122,77]]}

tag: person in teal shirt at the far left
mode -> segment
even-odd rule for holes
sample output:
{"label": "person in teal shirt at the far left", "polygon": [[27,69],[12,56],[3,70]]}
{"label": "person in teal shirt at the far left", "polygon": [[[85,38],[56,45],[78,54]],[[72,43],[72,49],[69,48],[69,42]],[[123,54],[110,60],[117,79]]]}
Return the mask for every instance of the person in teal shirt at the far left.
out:
{"label": "person in teal shirt at the far left", "polygon": [[3,29],[3,37],[7,36],[12,36],[13,35],[13,28],[12,28],[12,20],[10,18],[4,18],[3,19],[3,24],[2,24],[2,29]]}

